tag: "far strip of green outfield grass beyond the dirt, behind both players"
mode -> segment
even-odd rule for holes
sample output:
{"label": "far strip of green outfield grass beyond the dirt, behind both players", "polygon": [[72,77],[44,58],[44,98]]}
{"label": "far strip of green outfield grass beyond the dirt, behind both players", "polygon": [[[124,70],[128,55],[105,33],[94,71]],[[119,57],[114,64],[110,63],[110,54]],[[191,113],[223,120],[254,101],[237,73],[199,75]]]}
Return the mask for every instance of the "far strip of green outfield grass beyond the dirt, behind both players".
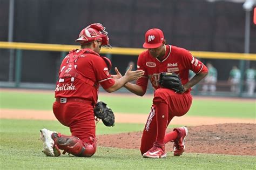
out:
{"label": "far strip of green outfield grass beyond the dirt, behind both players", "polygon": [[[114,112],[148,114],[152,99],[137,96],[112,96],[100,94]],[[53,94],[29,92],[0,92],[0,108],[51,110]],[[194,99],[188,115],[208,117],[255,118],[256,103]]]}

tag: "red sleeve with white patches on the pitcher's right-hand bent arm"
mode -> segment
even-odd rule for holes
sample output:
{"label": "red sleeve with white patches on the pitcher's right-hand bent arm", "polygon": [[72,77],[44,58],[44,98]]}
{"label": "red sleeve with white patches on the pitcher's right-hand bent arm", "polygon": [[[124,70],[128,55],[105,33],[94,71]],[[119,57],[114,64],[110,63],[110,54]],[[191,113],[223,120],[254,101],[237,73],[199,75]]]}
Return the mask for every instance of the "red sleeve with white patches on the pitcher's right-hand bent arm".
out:
{"label": "red sleeve with white patches on the pitcher's right-hand bent arm", "polygon": [[191,53],[185,49],[181,50],[184,63],[187,68],[198,74],[200,72],[207,72],[207,67],[200,60],[191,55]]}

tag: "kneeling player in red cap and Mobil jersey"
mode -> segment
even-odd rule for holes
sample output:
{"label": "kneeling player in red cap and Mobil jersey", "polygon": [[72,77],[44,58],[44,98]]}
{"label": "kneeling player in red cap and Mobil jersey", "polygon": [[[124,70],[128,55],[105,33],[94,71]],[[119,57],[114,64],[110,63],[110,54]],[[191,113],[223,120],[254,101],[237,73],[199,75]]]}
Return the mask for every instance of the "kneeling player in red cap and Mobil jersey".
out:
{"label": "kneeling player in red cap and Mobil jersey", "polygon": [[[182,116],[188,112],[192,103],[191,87],[196,85],[207,75],[207,67],[191,53],[183,48],[167,45],[164,33],[160,29],[150,29],[145,34],[143,47],[148,49],[140,53],[138,70],[145,74],[139,78],[137,84],[127,83],[126,89],[138,96],[143,96],[150,79],[154,98],[149,117],[147,119],[140,146],[144,158],[165,158],[165,144],[174,141],[174,156],[180,156],[185,149],[184,139],[188,133],[186,127],[174,128],[173,132],[165,133],[166,128],[174,116]],[[122,75],[115,68],[117,77]],[[188,80],[188,71],[196,75]],[[184,91],[162,88],[159,85],[161,72],[173,72],[179,75]]]}

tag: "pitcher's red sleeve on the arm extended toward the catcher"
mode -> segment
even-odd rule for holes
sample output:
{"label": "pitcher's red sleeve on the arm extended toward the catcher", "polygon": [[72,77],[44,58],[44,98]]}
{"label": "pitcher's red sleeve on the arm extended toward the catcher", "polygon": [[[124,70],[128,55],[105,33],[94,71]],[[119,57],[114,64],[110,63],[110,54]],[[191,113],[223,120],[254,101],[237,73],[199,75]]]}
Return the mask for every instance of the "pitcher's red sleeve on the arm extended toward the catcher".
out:
{"label": "pitcher's red sleeve on the arm extended toward the catcher", "polygon": [[137,69],[145,71],[142,78],[137,80],[137,85],[141,86],[144,93],[147,91],[147,83],[149,82],[149,77],[147,76],[147,69],[146,69],[146,53],[142,52],[139,55],[138,62],[137,62]]}

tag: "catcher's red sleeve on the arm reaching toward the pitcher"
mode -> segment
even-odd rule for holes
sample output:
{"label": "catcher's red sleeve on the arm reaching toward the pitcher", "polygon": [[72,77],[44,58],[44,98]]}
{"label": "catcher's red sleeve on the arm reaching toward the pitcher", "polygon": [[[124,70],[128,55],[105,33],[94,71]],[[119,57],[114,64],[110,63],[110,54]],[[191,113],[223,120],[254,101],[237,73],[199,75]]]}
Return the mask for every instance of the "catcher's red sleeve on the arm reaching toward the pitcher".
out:
{"label": "catcher's red sleeve on the arm reaching toward the pitcher", "polygon": [[107,67],[106,62],[103,58],[97,57],[97,60],[95,60],[94,64],[94,71],[97,82],[100,83],[100,85],[102,85],[103,89],[109,89],[109,87],[114,85],[115,81],[109,73],[109,69]]}

